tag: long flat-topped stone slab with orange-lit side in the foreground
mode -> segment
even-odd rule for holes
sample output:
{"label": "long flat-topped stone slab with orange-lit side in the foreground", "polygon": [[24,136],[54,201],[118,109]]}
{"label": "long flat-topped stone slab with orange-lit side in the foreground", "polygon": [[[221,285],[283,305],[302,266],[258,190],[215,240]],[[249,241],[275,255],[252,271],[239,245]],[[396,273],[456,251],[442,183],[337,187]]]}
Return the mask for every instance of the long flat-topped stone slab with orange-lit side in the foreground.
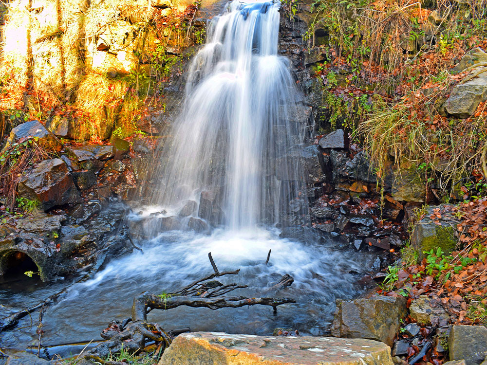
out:
{"label": "long flat-topped stone slab with orange-lit side in the foreground", "polygon": [[193,332],[176,337],[159,365],[393,365],[390,351],[364,339]]}

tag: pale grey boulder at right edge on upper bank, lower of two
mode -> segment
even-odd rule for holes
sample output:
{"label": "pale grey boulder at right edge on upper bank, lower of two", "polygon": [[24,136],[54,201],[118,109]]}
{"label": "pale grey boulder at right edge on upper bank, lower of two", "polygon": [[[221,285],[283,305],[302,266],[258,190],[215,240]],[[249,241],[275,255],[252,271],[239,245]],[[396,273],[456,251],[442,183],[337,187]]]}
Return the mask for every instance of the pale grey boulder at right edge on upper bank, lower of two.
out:
{"label": "pale grey boulder at right edge on upper bank, lower of two", "polygon": [[444,104],[447,112],[457,118],[468,118],[472,115],[480,103],[487,100],[487,67],[479,67],[472,73],[480,71],[477,77],[453,87],[450,97]]}

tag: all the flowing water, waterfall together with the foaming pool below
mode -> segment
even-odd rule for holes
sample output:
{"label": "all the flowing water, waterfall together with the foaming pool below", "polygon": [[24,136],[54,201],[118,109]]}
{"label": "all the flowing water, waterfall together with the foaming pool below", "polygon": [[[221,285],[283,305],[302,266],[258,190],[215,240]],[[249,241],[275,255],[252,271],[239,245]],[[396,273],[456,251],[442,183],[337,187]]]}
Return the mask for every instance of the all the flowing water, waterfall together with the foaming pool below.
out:
{"label": "all the flowing water, waterfall together with the foaming pool below", "polygon": [[[299,210],[290,209],[289,200],[304,198],[299,197],[299,165],[286,157],[293,156],[300,138],[297,90],[288,61],[277,55],[278,7],[233,1],[211,22],[208,43],[189,70],[173,138],[157,162],[159,188],[152,205],[127,217],[148,236],[139,242],[143,252],[113,259],[93,279],[75,284],[59,303],[46,308],[44,345],[99,339],[109,320],[127,317],[138,293],[171,292],[211,273],[208,252],[221,271],[241,269],[232,280],[248,288],[235,295],[293,297],[297,304],[280,306],[277,315],[259,306],[217,311],[179,307],[151,312],[151,322],[168,330],[189,326],[269,334],[283,327],[324,334],[335,299],[364,289],[357,279],[374,255],[340,252],[330,248],[333,242],[305,245],[279,238],[276,223],[282,226],[291,210]],[[206,228],[187,230],[191,227]],[[283,274],[295,281],[275,292],[272,285]],[[12,310],[27,308],[59,285],[40,285],[28,294],[0,292],[0,303],[9,303]],[[18,327],[0,345],[36,341],[29,317]]]}

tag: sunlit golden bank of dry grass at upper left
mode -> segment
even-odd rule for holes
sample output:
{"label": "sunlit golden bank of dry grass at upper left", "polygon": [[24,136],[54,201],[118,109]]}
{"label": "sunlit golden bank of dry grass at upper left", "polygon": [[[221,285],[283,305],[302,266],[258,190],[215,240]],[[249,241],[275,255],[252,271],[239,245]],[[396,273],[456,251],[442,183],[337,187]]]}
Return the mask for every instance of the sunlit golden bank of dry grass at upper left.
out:
{"label": "sunlit golden bank of dry grass at upper left", "polygon": [[[47,121],[58,115],[70,119],[75,138],[104,139],[112,129],[128,135],[144,107],[162,103],[161,81],[181,62],[177,53],[194,44],[189,28],[197,5],[185,9],[173,3],[161,9],[132,0],[30,4],[5,2],[0,109],[10,126],[2,124],[2,135],[24,116]],[[10,118],[19,111],[21,118]]]}

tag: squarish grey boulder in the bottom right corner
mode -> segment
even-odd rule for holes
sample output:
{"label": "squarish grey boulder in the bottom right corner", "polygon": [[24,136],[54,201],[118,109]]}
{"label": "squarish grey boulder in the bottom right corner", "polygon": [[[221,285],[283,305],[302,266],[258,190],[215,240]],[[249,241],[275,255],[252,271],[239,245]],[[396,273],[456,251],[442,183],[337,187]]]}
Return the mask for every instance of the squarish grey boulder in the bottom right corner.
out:
{"label": "squarish grey boulder in the bottom right corner", "polygon": [[479,365],[487,356],[487,328],[453,326],[448,339],[450,360],[465,360],[466,365]]}

